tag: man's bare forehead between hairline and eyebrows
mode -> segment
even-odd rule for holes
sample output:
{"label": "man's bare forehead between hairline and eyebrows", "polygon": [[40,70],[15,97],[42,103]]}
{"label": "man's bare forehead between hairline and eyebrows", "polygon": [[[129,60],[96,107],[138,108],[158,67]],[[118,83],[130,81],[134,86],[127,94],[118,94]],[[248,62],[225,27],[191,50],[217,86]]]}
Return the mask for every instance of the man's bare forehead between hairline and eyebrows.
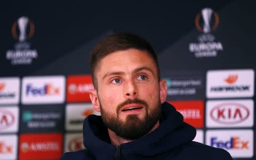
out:
{"label": "man's bare forehead between hairline and eyebrows", "polygon": [[153,57],[146,51],[138,49],[128,49],[124,51],[116,51],[108,54],[106,57],[101,59],[98,63],[96,70],[100,72],[102,70],[121,70],[127,69],[132,70],[137,67],[149,67],[153,70],[156,69],[156,62]]}

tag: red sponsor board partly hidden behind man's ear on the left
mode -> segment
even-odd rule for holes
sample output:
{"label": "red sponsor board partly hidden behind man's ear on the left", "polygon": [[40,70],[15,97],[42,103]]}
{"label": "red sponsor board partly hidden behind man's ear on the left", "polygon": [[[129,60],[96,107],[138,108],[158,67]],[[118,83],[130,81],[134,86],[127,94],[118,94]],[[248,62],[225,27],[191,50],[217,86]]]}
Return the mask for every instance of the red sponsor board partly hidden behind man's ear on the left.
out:
{"label": "red sponsor board partly hidden behind man's ear on the left", "polygon": [[93,88],[91,75],[69,76],[67,78],[67,102],[90,102],[89,91]]}

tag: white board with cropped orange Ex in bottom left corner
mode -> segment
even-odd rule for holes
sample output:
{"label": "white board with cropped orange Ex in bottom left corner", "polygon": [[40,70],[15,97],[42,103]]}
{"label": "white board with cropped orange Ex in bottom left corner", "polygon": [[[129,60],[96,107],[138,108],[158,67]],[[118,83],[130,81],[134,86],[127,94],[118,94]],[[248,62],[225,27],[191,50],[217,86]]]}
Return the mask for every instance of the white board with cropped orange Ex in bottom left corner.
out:
{"label": "white board with cropped orange Ex in bottom left corner", "polygon": [[17,135],[0,135],[0,159],[17,159]]}

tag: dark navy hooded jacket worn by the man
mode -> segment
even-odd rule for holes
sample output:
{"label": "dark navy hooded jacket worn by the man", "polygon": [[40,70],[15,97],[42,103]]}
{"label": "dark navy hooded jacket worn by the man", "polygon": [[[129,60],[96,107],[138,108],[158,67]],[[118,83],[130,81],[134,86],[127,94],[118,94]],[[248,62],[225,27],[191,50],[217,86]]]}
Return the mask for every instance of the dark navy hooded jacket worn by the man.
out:
{"label": "dark navy hooded jacket worn by the man", "polygon": [[226,150],[192,141],[196,135],[195,128],[183,122],[182,115],[169,103],[163,103],[162,108],[163,116],[157,129],[137,140],[119,146],[111,145],[101,116],[88,116],[83,126],[83,143],[86,149],[65,153],[61,160],[232,159]]}

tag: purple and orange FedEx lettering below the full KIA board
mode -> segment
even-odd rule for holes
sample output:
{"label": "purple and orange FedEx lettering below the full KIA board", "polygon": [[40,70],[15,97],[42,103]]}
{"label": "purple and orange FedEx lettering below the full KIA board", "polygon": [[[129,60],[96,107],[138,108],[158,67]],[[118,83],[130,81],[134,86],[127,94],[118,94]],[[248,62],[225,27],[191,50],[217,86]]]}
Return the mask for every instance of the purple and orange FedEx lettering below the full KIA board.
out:
{"label": "purple and orange FedEx lettering below the full KIA board", "polygon": [[249,141],[243,141],[240,137],[231,137],[227,141],[221,141],[218,137],[211,138],[211,146],[223,149],[249,149]]}

